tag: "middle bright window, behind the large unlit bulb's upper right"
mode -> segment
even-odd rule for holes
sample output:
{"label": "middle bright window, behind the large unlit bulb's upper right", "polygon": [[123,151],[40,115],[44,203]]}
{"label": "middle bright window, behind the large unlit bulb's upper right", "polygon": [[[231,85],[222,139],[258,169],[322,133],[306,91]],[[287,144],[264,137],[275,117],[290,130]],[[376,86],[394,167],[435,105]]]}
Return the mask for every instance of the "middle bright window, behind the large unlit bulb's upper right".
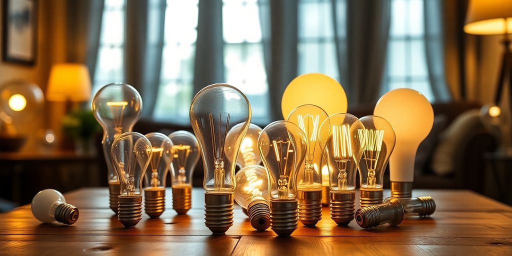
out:
{"label": "middle bright window, behind the large unlit bulb's upper right", "polygon": [[268,82],[257,0],[224,0],[224,77],[249,99],[254,122],[268,121]]}

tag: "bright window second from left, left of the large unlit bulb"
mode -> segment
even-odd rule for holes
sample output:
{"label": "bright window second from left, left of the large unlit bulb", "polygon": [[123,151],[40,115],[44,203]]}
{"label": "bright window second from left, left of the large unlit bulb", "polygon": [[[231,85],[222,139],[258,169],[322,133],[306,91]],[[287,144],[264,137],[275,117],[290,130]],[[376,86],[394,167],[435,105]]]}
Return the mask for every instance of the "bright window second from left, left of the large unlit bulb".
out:
{"label": "bright window second from left, left of the large unlit bulb", "polygon": [[194,97],[198,0],[167,0],[162,72],[154,117],[188,121]]}

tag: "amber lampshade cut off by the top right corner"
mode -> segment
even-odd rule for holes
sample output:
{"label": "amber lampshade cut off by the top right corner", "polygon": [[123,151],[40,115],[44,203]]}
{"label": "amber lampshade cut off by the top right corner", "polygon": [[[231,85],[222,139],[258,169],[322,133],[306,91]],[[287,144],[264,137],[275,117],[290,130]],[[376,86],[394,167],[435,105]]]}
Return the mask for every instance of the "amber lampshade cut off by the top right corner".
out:
{"label": "amber lampshade cut off by the top right corner", "polygon": [[476,35],[512,33],[512,3],[510,0],[471,0],[464,32]]}

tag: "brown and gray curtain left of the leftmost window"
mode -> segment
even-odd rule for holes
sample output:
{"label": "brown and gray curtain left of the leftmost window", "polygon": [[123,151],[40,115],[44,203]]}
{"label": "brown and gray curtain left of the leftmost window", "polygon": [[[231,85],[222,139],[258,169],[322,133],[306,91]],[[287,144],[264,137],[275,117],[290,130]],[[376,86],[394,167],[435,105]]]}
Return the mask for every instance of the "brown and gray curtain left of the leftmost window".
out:
{"label": "brown and gray curtain left of the leftmost window", "polygon": [[68,0],[66,10],[66,61],[86,64],[92,81],[98,57],[103,0]]}

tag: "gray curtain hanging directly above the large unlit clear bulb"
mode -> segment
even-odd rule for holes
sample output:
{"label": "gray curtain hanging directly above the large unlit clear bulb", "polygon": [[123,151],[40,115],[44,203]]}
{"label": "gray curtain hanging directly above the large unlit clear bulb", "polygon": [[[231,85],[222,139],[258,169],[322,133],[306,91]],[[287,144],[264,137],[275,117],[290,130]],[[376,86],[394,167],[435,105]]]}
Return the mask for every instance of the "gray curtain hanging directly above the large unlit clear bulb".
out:
{"label": "gray curtain hanging directly above the large unlit clear bulb", "polygon": [[194,93],[224,81],[222,0],[199,0]]}

